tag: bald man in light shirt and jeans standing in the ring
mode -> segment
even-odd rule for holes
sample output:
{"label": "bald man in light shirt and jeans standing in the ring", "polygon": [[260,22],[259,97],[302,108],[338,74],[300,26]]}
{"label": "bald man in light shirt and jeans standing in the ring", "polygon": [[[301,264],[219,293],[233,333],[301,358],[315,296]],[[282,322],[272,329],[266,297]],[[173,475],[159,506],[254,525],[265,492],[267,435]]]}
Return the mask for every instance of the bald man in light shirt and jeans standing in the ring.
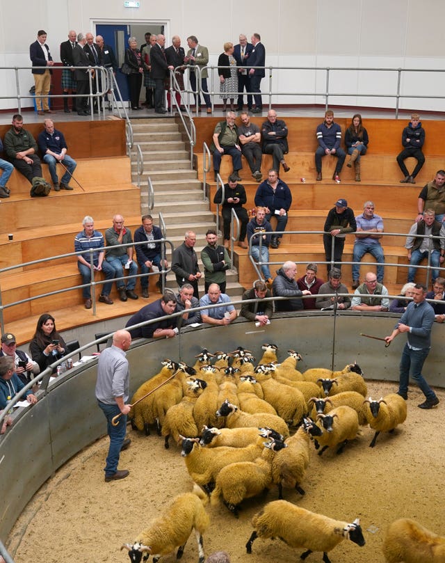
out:
{"label": "bald man in light shirt and jeans standing in the ring", "polygon": [[[127,414],[131,405],[129,398],[130,371],[125,352],[131,344],[128,331],[117,331],[113,335],[113,345],[104,349],[97,363],[97,381],[95,395],[97,404],[106,418],[106,428],[110,437],[108,456],[106,457],[105,481],[115,481],[128,477],[129,470],[118,470],[120,452],[127,450],[131,440],[125,439]],[[115,422],[113,418],[120,415]]]}

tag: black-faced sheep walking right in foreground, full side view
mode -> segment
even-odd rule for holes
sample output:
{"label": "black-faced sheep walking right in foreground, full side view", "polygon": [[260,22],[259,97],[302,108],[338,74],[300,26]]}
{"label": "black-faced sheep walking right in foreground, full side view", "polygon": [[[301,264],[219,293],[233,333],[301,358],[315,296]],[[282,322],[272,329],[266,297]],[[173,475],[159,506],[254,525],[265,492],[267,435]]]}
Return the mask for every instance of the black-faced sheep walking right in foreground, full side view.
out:
{"label": "black-faced sheep walking right in foreground, full side view", "polygon": [[359,518],[348,524],[310,512],[287,500],[268,502],[252,518],[252,525],[254,531],[245,545],[247,553],[252,553],[252,544],[257,537],[278,537],[293,548],[306,548],[300,559],[305,560],[313,551],[323,551],[323,561],[330,563],[327,552],[343,539],[348,538],[360,547],[365,544]]}

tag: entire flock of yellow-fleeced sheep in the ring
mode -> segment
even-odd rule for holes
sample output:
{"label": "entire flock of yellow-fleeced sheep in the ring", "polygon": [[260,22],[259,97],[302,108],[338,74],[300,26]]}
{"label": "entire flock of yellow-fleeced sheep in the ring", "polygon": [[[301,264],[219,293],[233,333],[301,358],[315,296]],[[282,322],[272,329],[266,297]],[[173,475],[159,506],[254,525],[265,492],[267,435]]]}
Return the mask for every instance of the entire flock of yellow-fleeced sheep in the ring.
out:
{"label": "entire flock of yellow-fleeced sheep in the ring", "polygon": [[[192,531],[199,563],[204,563],[209,499],[212,505],[222,500],[238,517],[243,500],[274,485],[279,500],[268,502],[252,518],[247,553],[257,537],[277,537],[304,548],[302,560],[323,552],[325,563],[330,563],[327,553],[343,539],[364,546],[358,518],[348,523],[309,512],[283,500],[283,489],[305,494],[301,484],[312,443],[319,456],[328,448],[340,454],[362,436],[360,427],[369,425],[374,431],[369,445],[374,447],[380,432],[392,432],[405,421],[405,400],[395,393],[366,399],[366,382],[355,363],[341,372],[300,372],[297,352],[289,350],[289,357],[278,363],[274,344],[262,349],[256,367],[242,347],[227,354],[204,349],[193,367],[165,360],[161,371],[133,395],[132,404],[148,394],[130,412],[133,429],[149,434],[155,427],[166,448],[172,438],[195,482],[193,492],[178,495],[163,516],[122,546],[133,563],[149,555],[156,563],[176,548],[179,559]],[[389,525],[382,550],[389,563],[445,563],[445,539],[406,518]]]}

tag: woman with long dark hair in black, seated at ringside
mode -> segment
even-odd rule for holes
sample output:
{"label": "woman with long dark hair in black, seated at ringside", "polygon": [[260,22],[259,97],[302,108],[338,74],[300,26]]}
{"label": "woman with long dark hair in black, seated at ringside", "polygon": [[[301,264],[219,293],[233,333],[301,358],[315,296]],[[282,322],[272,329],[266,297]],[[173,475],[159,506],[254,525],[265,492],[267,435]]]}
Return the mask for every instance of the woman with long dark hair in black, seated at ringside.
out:
{"label": "woman with long dark hair in black, seated at ringside", "polygon": [[[40,372],[65,355],[67,345],[56,329],[54,317],[45,312],[40,315],[33,340],[29,342],[31,358],[38,363]],[[56,372],[54,367],[53,373]]]}

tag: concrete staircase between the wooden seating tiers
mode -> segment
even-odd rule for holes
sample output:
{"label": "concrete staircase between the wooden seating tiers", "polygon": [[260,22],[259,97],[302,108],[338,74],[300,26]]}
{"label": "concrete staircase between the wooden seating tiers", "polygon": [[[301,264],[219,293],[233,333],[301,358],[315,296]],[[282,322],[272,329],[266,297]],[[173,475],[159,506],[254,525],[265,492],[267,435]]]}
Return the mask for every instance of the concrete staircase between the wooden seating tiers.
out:
{"label": "concrete staircase between the wooden seating tiers", "polygon": [[[184,241],[186,230],[196,233],[195,251],[200,260],[200,251],[206,245],[205,232],[216,228],[215,215],[209,209],[209,200],[204,199],[202,182],[197,179],[197,172],[191,169],[188,144],[182,140],[179,125],[173,118],[147,118],[131,122],[133,126],[134,147],[131,152],[131,180],[138,182],[136,145],[140,145],[143,154],[144,170],[140,184],[141,214],[153,216],[159,224],[159,212],[162,213],[167,230],[167,238],[175,248]],[[148,177],[154,188],[154,207],[148,208]],[[222,237],[220,238],[222,244]],[[167,257],[171,260],[171,249],[167,246]],[[200,269],[202,262],[200,260]],[[170,273],[168,287],[175,289],[175,276]],[[236,269],[227,271],[226,293],[232,299],[241,299],[244,288],[238,283]],[[204,283],[200,284],[200,294],[204,292]]]}

